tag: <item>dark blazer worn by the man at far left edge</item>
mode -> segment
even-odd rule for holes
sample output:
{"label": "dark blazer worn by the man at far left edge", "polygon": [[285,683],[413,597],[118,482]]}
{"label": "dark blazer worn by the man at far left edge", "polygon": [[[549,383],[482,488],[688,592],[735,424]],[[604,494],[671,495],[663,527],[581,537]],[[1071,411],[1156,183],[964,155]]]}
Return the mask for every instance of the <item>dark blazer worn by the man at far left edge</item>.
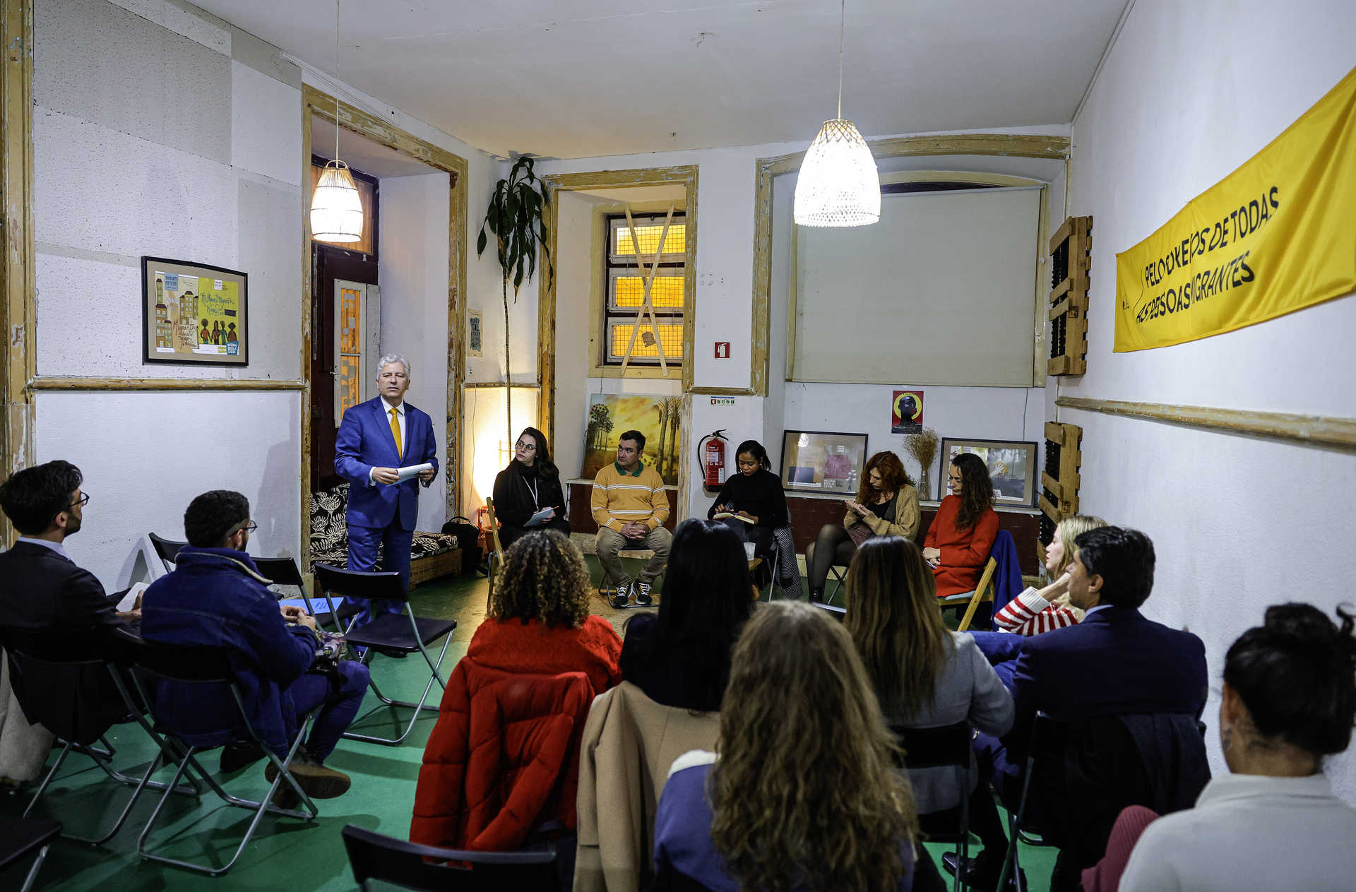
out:
{"label": "dark blazer worn by the man at far left edge", "polygon": [[[130,628],[94,573],[50,548],[15,542],[0,553],[0,626],[35,632]],[[96,740],[127,712],[103,667],[62,672],[18,668],[14,693],[24,717],[68,740]]]}

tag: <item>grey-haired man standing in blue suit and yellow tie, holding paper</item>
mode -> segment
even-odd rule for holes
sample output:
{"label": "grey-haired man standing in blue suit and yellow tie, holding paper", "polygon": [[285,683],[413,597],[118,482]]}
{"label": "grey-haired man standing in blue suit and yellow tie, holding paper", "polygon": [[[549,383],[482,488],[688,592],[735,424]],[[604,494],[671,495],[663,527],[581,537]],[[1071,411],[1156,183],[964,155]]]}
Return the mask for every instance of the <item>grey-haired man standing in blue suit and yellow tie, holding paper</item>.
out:
{"label": "grey-haired man standing in blue suit and yellow tie, holding paper", "polygon": [[[438,447],[433,420],[405,403],[410,363],[388,354],[377,363],[377,396],[344,411],[335,435],[335,472],[348,481],[348,569],[377,568],[377,546],[385,549],[384,569],[400,573],[410,590],[410,546],[419,514],[419,484],[427,487],[438,474]],[[433,468],[399,480],[397,470],[428,462]],[[363,601],[358,622],[373,620],[373,605]],[[378,611],[399,613],[385,602]]]}

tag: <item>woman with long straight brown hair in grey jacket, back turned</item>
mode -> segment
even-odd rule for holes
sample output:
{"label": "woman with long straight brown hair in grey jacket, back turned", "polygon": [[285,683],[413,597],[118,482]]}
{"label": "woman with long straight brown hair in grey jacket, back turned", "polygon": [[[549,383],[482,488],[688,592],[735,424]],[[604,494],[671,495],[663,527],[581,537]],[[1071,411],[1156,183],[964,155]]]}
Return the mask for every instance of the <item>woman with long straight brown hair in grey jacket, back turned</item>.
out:
{"label": "woman with long straight brown hair in grey jacket, back turned", "polygon": [[[843,628],[857,645],[890,727],[933,728],[968,721],[984,733],[1008,733],[1013,724],[1012,694],[975,640],[946,629],[932,568],[917,545],[896,535],[862,542],[848,568],[848,591],[852,596]],[[936,815],[937,827],[955,827],[949,812],[963,796],[975,792],[959,789],[951,767],[913,769],[909,781],[925,830],[930,815]],[[982,794],[987,796],[987,789]],[[993,817],[997,822],[997,813]],[[979,823],[975,809],[971,820]],[[991,839],[1001,847],[998,838]]]}

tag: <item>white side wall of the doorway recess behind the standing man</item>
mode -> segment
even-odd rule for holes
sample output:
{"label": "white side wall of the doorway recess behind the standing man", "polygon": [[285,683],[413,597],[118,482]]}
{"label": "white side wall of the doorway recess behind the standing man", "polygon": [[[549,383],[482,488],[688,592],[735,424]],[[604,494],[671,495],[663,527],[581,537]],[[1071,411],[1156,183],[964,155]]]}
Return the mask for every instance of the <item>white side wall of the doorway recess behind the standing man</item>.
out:
{"label": "white side wall of the doorway recess behind the standing man", "polygon": [[[381,180],[381,352],[410,361],[405,399],[433,418],[439,465],[447,418],[447,174]],[[447,480],[439,468],[419,498],[418,530],[441,530]]]}

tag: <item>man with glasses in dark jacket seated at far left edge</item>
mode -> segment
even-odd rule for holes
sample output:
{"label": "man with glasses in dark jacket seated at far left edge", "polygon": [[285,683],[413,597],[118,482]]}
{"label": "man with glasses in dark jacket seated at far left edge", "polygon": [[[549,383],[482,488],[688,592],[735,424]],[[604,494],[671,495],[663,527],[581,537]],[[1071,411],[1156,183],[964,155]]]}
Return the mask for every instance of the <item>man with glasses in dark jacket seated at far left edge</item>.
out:
{"label": "man with glasses in dark jacket seated at far left edge", "polygon": [[[87,569],[66,557],[62,542],[80,530],[89,496],[80,492],[80,469],[66,461],[49,461],[14,473],[0,485],[0,508],[19,531],[9,550],[0,553],[0,626],[37,632],[76,632],[129,628],[140,611],[119,614],[117,596]],[[79,681],[76,681],[79,679]],[[68,704],[73,724],[50,728],[62,736],[95,739],[121,718],[126,709],[106,672],[62,675],[49,672],[41,685],[26,676],[15,687],[24,713],[38,721],[37,706]],[[62,710],[65,712],[65,710]],[[92,733],[91,733],[92,732]]]}

